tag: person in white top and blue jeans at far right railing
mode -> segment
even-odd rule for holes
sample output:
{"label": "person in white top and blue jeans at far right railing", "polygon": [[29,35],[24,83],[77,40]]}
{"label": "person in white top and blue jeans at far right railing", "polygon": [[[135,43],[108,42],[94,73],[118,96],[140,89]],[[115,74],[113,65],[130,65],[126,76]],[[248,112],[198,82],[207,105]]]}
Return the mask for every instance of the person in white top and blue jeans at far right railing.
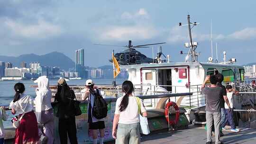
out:
{"label": "person in white top and blue jeans at far right railing", "polygon": [[225,129],[224,127],[228,124],[231,126],[231,131],[232,132],[239,132],[239,129],[236,128],[234,120],[233,120],[233,96],[238,94],[238,91],[233,92],[232,90],[232,86],[231,85],[227,85],[226,86],[226,90],[227,90],[227,97],[229,99],[229,104],[230,104],[230,108],[231,110],[227,110],[228,105],[225,103],[225,108],[226,108],[226,120],[223,123],[223,125],[221,126],[222,129]]}

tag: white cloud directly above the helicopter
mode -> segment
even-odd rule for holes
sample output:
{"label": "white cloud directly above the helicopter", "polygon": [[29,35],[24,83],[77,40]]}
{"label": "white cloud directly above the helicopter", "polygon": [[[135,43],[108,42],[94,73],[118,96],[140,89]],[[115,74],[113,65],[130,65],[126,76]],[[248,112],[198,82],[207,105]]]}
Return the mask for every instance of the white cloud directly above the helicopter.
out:
{"label": "white cloud directly above the helicopter", "polygon": [[[125,25],[106,26],[95,28],[94,37],[101,40],[127,41],[129,39],[145,40],[158,35],[158,30],[151,25],[146,9],[141,8],[136,12],[123,12],[120,21],[128,21]],[[131,23],[130,23],[131,22]]]}

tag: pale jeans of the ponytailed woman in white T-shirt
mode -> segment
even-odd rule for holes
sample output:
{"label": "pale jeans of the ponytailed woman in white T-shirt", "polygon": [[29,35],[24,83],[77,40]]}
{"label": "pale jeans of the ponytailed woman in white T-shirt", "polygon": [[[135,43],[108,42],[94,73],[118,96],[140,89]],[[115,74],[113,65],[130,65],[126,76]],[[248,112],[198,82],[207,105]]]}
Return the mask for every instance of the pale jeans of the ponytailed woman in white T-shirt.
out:
{"label": "pale jeans of the ponytailed woman in white T-shirt", "polygon": [[118,124],[116,144],[140,144],[139,123]]}

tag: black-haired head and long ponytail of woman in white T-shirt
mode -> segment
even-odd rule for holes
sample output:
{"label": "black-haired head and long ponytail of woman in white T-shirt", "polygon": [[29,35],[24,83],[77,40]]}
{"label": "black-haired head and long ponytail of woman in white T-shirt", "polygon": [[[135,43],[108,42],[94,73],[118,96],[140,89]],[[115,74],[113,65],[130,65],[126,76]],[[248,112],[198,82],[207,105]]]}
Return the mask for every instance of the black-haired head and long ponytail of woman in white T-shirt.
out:
{"label": "black-haired head and long ponytail of woman in white T-shirt", "polygon": [[122,84],[122,91],[125,93],[120,105],[119,110],[124,111],[129,103],[129,95],[134,91],[134,87],[131,81],[124,81]]}

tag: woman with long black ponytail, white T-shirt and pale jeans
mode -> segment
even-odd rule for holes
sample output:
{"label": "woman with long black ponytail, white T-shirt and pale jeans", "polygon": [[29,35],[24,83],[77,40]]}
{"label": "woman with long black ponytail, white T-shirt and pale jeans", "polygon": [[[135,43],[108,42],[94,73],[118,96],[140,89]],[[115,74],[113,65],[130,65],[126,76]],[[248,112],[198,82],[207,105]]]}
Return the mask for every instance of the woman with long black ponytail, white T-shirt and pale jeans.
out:
{"label": "woman with long black ponytail, white T-shirt and pale jeans", "polygon": [[[132,82],[124,81],[122,91],[125,95],[116,101],[112,136],[116,139],[116,144],[140,144],[138,104],[137,98],[132,95],[134,91]],[[141,100],[140,103],[139,110],[143,117],[147,117]]]}

